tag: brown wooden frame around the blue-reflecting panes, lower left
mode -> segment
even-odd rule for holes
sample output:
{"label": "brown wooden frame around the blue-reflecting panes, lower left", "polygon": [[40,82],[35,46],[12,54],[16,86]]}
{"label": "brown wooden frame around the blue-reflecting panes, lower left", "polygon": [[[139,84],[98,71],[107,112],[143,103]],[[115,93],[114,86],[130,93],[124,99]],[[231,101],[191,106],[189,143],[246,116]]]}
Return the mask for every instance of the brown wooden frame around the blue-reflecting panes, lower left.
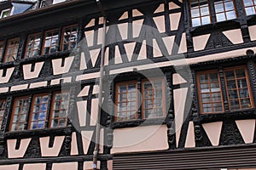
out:
{"label": "brown wooden frame around the blue-reflecting panes, lower left", "polygon": [[[37,98],[37,97],[42,97],[42,96],[45,96],[45,95],[48,95],[48,97],[49,97],[49,94],[35,94],[35,95],[33,95],[33,99],[32,99],[32,105],[31,105],[31,111],[30,111],[30,116],[29,116],[29,121],[28,121],[28,126],[27,126],[27,129],[29,129],[29,130],[36,130],[36,129],[44,129],[45,127],[47,127],[47,122],[48,122],[48,113],[49,113],[49,111],[48,111],[48,105],[49,105],[49,98],[48,98],[48,102],[46,103],[46,115],[45,115],[45,118],[44,118],[44,128],[31,128],[31,123],[32,122],[39,122],[39,120],[38,121],[32,121],[32,116],[33,116],[33,107],[34,107],[34,105],[35,105],[35,99]],[[42,103],[40,103],[39,105],[42,105]],[[42,120],[40,120],[40,121],[42,121]]]}

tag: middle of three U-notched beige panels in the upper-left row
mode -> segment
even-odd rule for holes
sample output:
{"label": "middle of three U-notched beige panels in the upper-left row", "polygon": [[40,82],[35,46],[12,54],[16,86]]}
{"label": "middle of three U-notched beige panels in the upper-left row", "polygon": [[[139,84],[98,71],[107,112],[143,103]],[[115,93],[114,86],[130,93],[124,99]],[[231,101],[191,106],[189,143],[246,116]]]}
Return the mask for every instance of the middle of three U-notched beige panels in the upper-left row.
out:
{"label": "middle of three U-notched beige panels in the upper-left row", "polygon": [[31,71],[32,64],[23,65],[23,76],[24,79],[38,78],[40,71],[42,70],[44,62],[38,62],[35,64],[34,71]]}

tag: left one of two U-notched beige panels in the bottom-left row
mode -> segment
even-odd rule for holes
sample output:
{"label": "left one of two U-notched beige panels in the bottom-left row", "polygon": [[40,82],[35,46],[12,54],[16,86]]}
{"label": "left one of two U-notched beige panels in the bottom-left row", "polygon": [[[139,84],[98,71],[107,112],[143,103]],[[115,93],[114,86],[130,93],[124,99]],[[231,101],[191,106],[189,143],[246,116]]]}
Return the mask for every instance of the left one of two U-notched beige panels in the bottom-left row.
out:
{"label": "left one of two U-notched beige panels in the bottom-left row", "polygon": [[19,150],[15,150],[17,139],[8,139],[7,140],[7,150],[9,158],[20,158],[23,157],[26,153],[26,149],[31,139],[21,139]]}

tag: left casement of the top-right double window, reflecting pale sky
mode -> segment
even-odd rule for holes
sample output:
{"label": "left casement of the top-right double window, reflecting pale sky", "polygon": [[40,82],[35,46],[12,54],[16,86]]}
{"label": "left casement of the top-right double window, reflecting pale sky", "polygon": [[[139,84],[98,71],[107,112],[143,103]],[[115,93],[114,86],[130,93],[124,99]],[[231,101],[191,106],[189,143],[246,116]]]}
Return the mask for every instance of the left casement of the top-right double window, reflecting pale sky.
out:
{"label": "left casement of the top-right double window, reflecting pale sky", "polygon": [[192,26],[202,26],[211,23],[207,0],[190,1],[190,13]]}

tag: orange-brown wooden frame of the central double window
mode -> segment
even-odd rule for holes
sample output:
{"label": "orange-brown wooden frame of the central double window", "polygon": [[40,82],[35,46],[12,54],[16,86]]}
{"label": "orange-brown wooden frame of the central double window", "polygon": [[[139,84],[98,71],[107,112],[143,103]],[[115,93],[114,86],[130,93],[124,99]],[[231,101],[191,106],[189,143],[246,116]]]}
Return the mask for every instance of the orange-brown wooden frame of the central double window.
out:
{"label": "orange-brown wooden frame of the central double window", "polygon": [[[144,83],[145,82],[152,82],[152,81],[159,81],[162,83],[162,99],[163,99],[163,105],[162,105],[162,110],[163,110],[163,116],[158,116],[158,117],[148,117],[145,118],[144,114],[144,99],[143,99],[143,92],[144,92]],[[135,119],[127,119],[127,120],[118,120],[118,104],[119,104],[119,86],[121,85],[128,85],[128,84],[136,84],[136,89],[137,89],[137,96],[136,96],[136,118]],[[138,83],[141,83],[141,89],[138,89]],[[153,88],[154,89],[154,88]],[[127,94],[127,93],[126,93]],[[141,95],[139,95],[141,94]],[[152,78],[150,80],[143,79],[140,81],[127,81],[127,82],[116,82],[115,83],[115,106],[114,106],[114,122],[129,122],[129,121],[136,121],[137,119],[155,119],[155,118],[163,118],[166,116],[166,86],[165,86],[165,79],[164,78]],[[138,101],[141,101],[141,106],[138,105]],[[154,104],[153,104],[154,105]],[[154,109],[154,107],[153,107]],[[138,111],[141,110],[141,117],[138,115]]]}

